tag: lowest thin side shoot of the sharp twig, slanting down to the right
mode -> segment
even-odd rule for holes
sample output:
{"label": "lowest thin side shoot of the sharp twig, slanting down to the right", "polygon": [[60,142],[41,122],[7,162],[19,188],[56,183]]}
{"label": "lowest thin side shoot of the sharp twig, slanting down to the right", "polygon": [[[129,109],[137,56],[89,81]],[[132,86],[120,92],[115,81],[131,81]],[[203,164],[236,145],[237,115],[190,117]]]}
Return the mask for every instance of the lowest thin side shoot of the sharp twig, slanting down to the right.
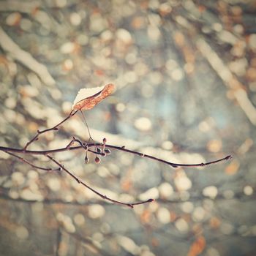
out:
{"label": "lowest thin side shoot of the sharp twig, slanting down to the right", "polygon": [[150,203],[152,201],[154,201],[154,199],[148,199],[142,202],[138,202],[138,203],[124,203],[118,200],[114,200],[106,195],[102,195],[101,193],[97,192],[97,190],[93,189],[92,187],[90,187],[89,185],[87,185],[84,181],[80,180],[80,178],[78,178],[78,176],[75,176],[74,173],[71,173],[69,170],[67,170],[66,167],[64,167],[64,165],[61,165],[61,163],[59,163],[56,159],[54,159],[53,157],[51,157],[49,154],[46,155],[46,157],[48,157],[51,161],[55,162],[56,165],[59,165],[59,167],[61,167],[61,170],[64,170],[69,176],[71,176],[72,178],[75,179],[75,181],[77,181],[79,184],[82,184],[84,187],[86,187],[87,189],[90,189],[92,192],[94,192],[96,195],[99,195],[99,197],[102,197],[102,199],[104,200],[108,200],[112,203],[117,203],[123,206],[129,206],[130,208],[133,208],[133,206],[138,206],[140,204],[143,203]]}

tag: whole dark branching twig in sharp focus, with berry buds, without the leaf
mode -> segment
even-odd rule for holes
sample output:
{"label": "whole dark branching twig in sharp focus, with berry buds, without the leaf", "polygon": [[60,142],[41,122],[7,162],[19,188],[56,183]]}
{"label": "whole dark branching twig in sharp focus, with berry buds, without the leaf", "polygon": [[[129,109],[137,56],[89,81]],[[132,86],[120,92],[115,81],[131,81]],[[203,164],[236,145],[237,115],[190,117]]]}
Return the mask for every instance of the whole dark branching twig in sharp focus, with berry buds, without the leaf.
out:
{"label": "whole dark branching twig in sharp focus, with berry buds, without the leaf", "polygon": [[[153,157],[153,156],[148,155],[148,154],[143,154],[143,153],[140,153],[138,151],[129,150],[129,149],[125,148],[124,146],[120,147],[120,146],[113,146],[113,145],[106,144],[107,140],[105,138],[102,140],[102,143],[89,143],[90,141],[85,143],[85,142],[79,140],[78,138],[73,137],[72,140],[64,148],[56,148],[56,149],[45,150],[45,151],[27,150],[28,146],[31,143],[38,140],[39,135],[41,135],[42,133],[45,133],[45,132],[52,131],[52,130],[58,130],[59,126],[61,124],[63,124],[69,118],[74,116],[75,113],[77,113],[77,112],[78,112],[78,110],[72,110],[69,113],[69,116],[67,116],[67,118],[64,118],[63,121],[59,122],[59,124],[56,124],[56,126],[54,126],[52,128],[44,129],[42,131],[38,130],[37,135],[35,135],[34,138],[32,138],[31,140],[29,140],[29,142],[26,143],[26,146],[24,148],[19,149],[19,148],[9,148],[9,147],[0,146],[0,151],[4,151],[7,154],[10,154],[13,157],[16,157],[16,158],[20,159],[21,161],[26,162],[26,164],[31,165],[32,167],[40,169],[40,170],[64,170],[64,172],[66,172],[69,176],[74,178],[75,181],[77,181],[79,184],[82,184],[83,187],[86,187],[87,189],[90,189],[96,195],[98,195],[99,197],[102,197],[102,199],[108,200],[112,203],[117,203],[119,205],[129,206],[130,208],[133,208],[133,206],[140,205],[140,204],[143,204],[143,203],[150,203],[150,202],[153,201],[153,199],[148,199],[148,200],[138,202],[138,203],[124,203],[124,202],[121,202],[121,201],[118,201],[118,200],[114,200],[114,199],[112,199],[112,198],[110,198],[106,195],[102,195],[100,192],[98,192],[97,190],[90,187],[84,181],[80,180],[80,178],[78,178],[78,176],[75,176],[74,173],[67,170],[67,168],[64,167],[64,165],[61,165],[61,163],[58,162],[56,159],[54,159],[51,156],[51,154],[57,153],[57,152],[70,151],[70,150],[78,150],[80,148],[83,148],[86,151],[86,159],[85,160],[86,160],[86,163],[87,163],[87,162],[89,162],[89,159],[87,158],[87,152],[88,151],[90,151],[91,153],[94,153],[95,155],[105,157],[107,154],[110,154],[110,150],[108,148],[112,148],[112,149],[115,149],[115,150],[118,150],[118,151],[124,151],[124,152],[129,153],[129,154],[135,154],[135,155],[138,155],[139,157],[145,157],[145,158],[157,161],[157,162],[162,162],[165,165],[170,165],[171,167],[203,167],[203,166],[206,166],[206,165],[214,165],[214,164],[217,164],[218,162],[222,162],[222,161],[229,160],[229,159],[232,158],[232,156],[228,155],[227,157],[224,157],[222,159],[217,159],[217,160],[214,160],[214,161],[211,161],[211,162],[205,162],[205,163],[201,162],[201,163],[196,163],[196,164],[181,164],[181,163],[175,163],[175,162],[168,162],[164,159],[159,159],[157,157]],[[87,123],[86,123],[86,126],[89,129]],[[89,133],[89,136],[90,136],[90,139],[91,139],[90,133]],[[78,143],[80,146],[72,146],[75,142]],[[94,148],[94,150],[92,150],[91,148]],[[31,162],[29,162],[28,160],[24,159],[23,157],[19,157],[18,155],[14,154],[14,153],[30,154],[30,155],[44,155],[44,156],[48,157],[48,159],[50,159],[56,165],[58,165],[59,168],[58,169],[52,169],[52,168],[39,167],[37,165],[31,164]],[[97,163],[100,162],[99,157],[95,158],[95,162],[97,162]]]}

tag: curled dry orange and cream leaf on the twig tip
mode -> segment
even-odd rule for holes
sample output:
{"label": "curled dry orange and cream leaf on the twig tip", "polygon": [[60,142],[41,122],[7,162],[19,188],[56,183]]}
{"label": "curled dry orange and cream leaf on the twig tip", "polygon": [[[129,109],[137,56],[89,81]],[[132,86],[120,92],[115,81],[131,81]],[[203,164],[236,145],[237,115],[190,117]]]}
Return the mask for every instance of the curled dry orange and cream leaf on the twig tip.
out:
{"label": "curled dry orange and cream leaf on the twig tip", "polygon": [[80,89],[77,97],[75,97],[73,110],[90,110],[94,108],[102,99],[112,94],[115,86],[113,83],[108,83],[106,86],[94,87],[91,89]]}

